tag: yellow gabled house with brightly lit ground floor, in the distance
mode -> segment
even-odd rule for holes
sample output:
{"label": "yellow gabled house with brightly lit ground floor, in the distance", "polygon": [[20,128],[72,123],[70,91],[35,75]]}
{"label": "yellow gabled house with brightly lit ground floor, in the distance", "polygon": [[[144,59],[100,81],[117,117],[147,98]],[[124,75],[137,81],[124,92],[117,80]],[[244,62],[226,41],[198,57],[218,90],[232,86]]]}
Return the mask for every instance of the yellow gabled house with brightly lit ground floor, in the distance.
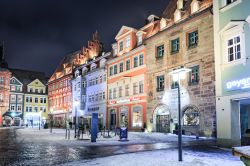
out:
{"label": "yellow gabled house with brightly lit ground floor, in the distance", "polygon": [[48,94],[44,83],[35,79],[27,84],[24,94],[24,124],[30,127],[43,126],[48,120]]}

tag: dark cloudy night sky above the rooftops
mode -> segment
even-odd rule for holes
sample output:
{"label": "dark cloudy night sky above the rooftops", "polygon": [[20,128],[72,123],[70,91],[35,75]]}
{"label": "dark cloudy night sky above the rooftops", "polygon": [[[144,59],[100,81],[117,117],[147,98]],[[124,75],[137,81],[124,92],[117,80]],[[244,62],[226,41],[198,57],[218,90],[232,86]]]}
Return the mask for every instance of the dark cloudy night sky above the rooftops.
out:
{"label": "dark cloudy night sky above the rooftops", "polygon": [[169,0],[0,0],[0,41],[11,68],[50,76],[98,30],[106,51],[122,25],[139,28]]}

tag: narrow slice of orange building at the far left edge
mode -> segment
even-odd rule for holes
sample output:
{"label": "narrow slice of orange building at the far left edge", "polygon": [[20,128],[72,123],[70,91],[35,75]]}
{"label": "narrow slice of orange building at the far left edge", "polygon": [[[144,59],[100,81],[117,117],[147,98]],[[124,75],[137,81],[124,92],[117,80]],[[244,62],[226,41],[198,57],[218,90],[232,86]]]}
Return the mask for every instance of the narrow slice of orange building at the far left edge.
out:
{"label": "narrow slice of orange building at the far left edge", "polygon": [[0,126],[3,125],[2,115],[9,109],[11,72],[0,68]]}

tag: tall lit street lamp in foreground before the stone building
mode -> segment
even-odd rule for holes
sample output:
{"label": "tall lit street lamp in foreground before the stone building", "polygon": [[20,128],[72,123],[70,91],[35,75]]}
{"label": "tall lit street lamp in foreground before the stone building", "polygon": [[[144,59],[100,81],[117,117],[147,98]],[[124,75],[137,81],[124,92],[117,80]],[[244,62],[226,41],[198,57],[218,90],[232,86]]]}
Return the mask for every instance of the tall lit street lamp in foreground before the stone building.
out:
{"label": "tall lit street lamp in foreground before the stone building", "polygon": [[181,129],[181,94],[180,94],[180,80],[185,79],[186,73],[190,72],[191,69],[181,68],[171,71],[169,74],[172,76],[173,81],[178,83],[178,153],[179,161],[182,161],[182,129]]}

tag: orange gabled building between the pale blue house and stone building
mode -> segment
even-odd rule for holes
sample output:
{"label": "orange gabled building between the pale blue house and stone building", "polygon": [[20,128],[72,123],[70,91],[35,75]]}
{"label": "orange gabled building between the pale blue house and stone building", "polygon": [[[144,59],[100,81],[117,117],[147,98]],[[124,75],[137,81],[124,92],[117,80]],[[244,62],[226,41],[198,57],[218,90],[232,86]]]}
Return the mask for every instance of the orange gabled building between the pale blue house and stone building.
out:
{"label": "orange gabled building between the pale blue house and stone building", "polygon": [[146,51],[143,41],[155,34],[158,20],[149,17],[149,23],[137,30],[123,26],[112,45],[113,58],[107,69],[107,126],[128,127],[139,131],[145,128],[147,113]]}

